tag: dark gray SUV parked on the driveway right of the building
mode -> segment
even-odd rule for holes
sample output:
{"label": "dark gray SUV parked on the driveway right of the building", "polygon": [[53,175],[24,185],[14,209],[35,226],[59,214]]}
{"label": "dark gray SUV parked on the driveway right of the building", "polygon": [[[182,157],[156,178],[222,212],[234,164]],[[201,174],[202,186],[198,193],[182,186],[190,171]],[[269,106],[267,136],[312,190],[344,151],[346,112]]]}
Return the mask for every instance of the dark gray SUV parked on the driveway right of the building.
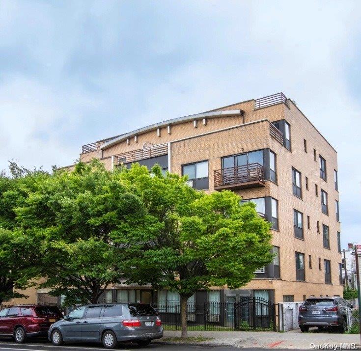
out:
{"label": "dark gray SUV parked on the driveway right of the building", "polygon": [[352,308],[342,297],[310,297],[299,307],[298,324],[302,332],[317,326],[333,328],[339,333],[347,330],[347,310]]}

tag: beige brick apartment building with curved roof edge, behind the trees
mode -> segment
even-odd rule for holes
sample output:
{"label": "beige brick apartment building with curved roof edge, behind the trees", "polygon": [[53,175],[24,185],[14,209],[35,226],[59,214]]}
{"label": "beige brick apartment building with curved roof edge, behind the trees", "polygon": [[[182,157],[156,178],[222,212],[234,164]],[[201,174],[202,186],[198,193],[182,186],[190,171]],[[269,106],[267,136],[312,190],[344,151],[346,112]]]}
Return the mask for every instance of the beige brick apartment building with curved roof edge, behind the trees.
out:
{"label": "beige brick apartment building with curved roof edge, behind the trees", "polygon": [[[243,296],[280,302],[342,295],[337,153],[282,93],[83,145],[80,159],[92,158],[108,169],[132,162],[150,168],[158,162],[164,171],[188,174],[195,189],[235,191],[243,201],[255,202],[260,216],[273,223],[274,262],[256,271],[242,289],[197,292],[191,298],[197,303]],[[29,302],[47,297],[47,291],[29,293]],[[178,298],[121,283],[104,296],[107,302]]]}

